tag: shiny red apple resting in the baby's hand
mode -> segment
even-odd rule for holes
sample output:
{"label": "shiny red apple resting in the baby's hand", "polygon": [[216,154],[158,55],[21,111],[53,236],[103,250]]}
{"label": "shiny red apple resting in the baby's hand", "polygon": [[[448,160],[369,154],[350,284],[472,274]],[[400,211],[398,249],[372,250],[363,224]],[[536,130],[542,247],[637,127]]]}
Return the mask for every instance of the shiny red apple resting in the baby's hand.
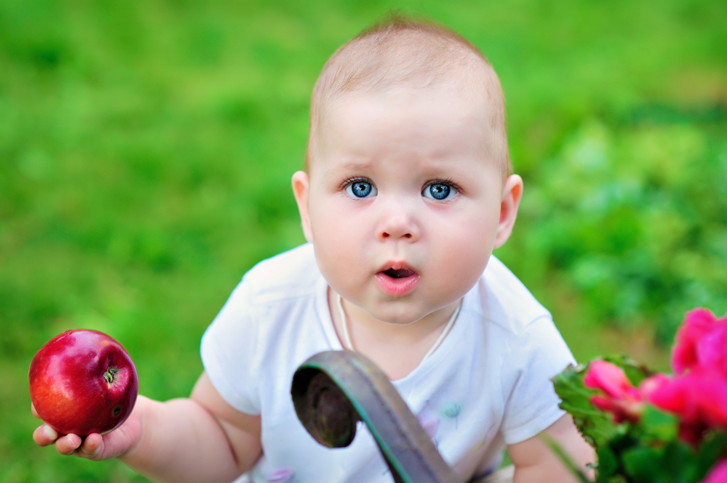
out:
{"label": "shiny red apple resting in the baby's hand", "polygon": [[33,357],[28,376],[33,406],[59,434],[113,431],[129,417],[139,393],[126,349],[98,330],[55,336]]}

